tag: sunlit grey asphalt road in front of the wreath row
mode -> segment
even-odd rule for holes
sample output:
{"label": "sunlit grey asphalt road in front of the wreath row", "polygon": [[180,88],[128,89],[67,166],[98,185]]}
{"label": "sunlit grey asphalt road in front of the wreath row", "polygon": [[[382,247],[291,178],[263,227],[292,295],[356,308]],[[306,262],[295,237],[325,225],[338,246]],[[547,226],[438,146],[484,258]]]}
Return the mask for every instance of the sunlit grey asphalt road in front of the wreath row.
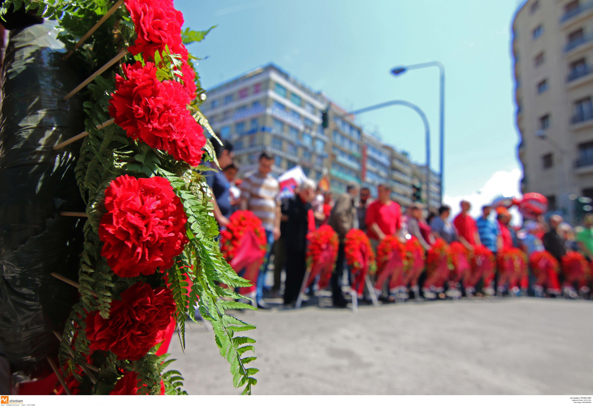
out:
{"label": "sunlit grey asphalt road in front of the wreath row", "polygon": [[[593,394],[593,301],[467,299],[234,313],[257,325],[263,394]],[[212,331],[192,323],[171,365],[186,391],[240,394]]]}

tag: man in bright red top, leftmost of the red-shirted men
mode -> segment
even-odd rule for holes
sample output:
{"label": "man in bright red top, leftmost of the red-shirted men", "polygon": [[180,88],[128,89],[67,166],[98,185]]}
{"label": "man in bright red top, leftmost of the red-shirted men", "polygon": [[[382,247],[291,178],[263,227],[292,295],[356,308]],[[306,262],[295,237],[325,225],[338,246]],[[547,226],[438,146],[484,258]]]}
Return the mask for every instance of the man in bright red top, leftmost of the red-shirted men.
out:
{"label": "man in bright red top, leftmost of the red-shirted men", "polygon": [[374,248],[385,236],[394,235],[400,228],[401,208],[391,200],[391,186],[377,186],[378,199],[366,209],[366,235]]}

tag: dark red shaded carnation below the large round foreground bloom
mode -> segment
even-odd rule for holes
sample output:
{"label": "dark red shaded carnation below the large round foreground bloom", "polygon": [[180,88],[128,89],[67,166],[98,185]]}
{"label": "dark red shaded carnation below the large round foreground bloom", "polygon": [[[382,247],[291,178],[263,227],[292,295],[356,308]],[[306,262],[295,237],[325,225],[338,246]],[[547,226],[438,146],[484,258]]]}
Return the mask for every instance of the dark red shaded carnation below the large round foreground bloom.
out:
{"label": "dark red shaded carnation below the large round foreground bloom", "polygon": [[137,282],[123,291],[122,300],[111,301],[109,319],[98,311],[87,315],[89,348],[111,351],[120,360],[139,360],[157,343],[174,311],[170,290]]}

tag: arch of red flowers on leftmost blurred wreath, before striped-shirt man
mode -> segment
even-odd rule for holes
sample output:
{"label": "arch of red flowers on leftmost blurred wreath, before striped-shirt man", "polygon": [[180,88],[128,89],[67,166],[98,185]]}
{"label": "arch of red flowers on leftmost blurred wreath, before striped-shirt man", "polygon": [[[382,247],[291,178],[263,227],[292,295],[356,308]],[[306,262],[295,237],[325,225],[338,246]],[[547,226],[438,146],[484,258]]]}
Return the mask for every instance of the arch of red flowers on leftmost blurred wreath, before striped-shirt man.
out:
{"label": "arch of red flowers on leftmost blurred wreath, before striped-shirt man", "polygon": [[262,220],[249,210],[237,210],[231,214],[228,220],[230,223],[227,225],[227,229],[221,231],[221,252],[224,258],[230,261],[235,257],[241,237],[247,231],[253,231],[256,234],[263,258],[266,255],[267,240]]}

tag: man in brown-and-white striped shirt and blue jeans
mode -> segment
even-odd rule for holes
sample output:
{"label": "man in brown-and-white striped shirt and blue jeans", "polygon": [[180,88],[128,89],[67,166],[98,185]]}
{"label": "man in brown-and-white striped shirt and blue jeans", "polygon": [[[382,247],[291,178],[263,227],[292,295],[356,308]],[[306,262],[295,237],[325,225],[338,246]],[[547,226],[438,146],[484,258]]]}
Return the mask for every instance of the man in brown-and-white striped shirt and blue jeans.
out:
{"label": "man in brown-and-white striped shirt and blue jeans", "polygon": [[257,172],[246,176],[241,184],[241,210],[253,211],[253,214],[262,220],[262,226],[266,230],[267,252],[256,283],[256,301],[260,309],[267,309],[263,301],[263,284],[266,280],[273,243],[280,237],[282,215],[280,214],[280,185],[278,180],[270,174],[273,164],[274,157],[263,152],[259,158]]}

